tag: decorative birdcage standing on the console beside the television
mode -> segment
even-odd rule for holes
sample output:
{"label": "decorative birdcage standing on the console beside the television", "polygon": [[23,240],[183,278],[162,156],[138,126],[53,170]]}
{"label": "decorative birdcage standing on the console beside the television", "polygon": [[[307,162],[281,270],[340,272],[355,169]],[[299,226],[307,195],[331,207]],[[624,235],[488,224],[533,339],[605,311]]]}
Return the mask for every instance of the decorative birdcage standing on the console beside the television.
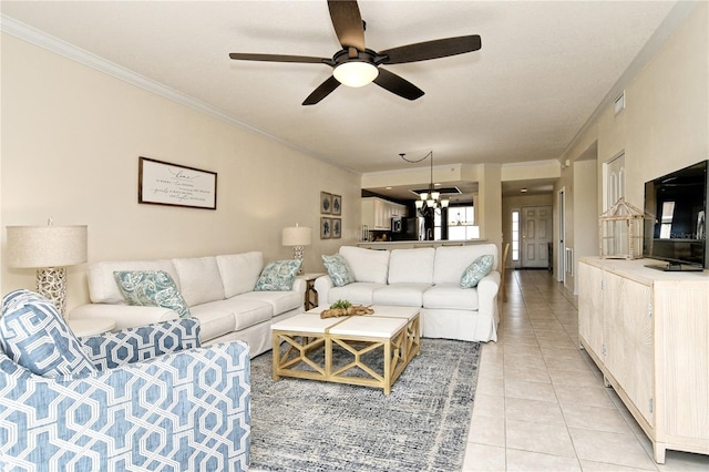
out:
{"label": "decorative birdcage standing on the console beside the television", "polygon": [[645,212],[620,197],[598,218],[598,249],[602,259],[643,257]]}

